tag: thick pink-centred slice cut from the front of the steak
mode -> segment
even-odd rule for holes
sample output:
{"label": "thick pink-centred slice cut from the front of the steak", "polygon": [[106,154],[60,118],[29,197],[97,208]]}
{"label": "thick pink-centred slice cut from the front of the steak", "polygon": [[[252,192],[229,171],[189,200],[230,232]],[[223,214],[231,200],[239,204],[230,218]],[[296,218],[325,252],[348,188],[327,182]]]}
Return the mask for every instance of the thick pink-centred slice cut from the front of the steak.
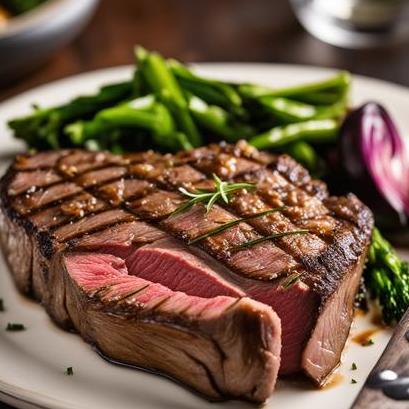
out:
{"label": "thick pink-centred slice cut from the front of the steak", "polygon": [[[249,298],[201,298],[127,274],[123,259],[64,256],[74,327],[106,356],[170,375],[213,399],[263,402],[280,361],[280,321]],[[145,274],[148,275],[148,274]]]}

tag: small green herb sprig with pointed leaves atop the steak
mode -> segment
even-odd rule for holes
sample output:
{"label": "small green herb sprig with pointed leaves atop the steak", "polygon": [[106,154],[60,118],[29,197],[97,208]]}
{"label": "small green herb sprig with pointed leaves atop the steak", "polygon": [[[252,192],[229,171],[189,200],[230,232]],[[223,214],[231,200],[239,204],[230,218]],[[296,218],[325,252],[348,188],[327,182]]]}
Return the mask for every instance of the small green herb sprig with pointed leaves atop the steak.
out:
{"label": "small green herb sprig with pointed leaves atop the steak", "polygon": [[222,181],[217,175],[213,174],[215,182],[215,190],[196,189],[194,192],[189,192],[183,187],[179,188],[179,192],[190,197],[186,203],[180,205],[171,216],[175,216],[190,209],[193,205],[202,203],[206,205],[206,213],[209,213],[212,206],[222,200],[229,203],[229,195],[241,189],[255,189],[256,185],[252,183],[230,183]]}

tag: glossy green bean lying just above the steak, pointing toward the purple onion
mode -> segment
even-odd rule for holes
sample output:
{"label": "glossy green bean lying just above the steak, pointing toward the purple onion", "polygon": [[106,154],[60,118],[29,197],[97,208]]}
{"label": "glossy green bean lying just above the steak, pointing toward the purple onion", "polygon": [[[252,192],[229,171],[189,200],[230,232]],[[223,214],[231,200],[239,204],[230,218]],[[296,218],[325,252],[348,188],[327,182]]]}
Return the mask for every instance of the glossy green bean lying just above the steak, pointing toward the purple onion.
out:
{"label": "glossy green bean lying just above the steak, pointing toward the purple onion", "polygon": [[334,119],[310,120],[274,127],[249,142],[258,149],[277,148],[296,141],[329,143],[335,141],[338,129],[339,122]]}

